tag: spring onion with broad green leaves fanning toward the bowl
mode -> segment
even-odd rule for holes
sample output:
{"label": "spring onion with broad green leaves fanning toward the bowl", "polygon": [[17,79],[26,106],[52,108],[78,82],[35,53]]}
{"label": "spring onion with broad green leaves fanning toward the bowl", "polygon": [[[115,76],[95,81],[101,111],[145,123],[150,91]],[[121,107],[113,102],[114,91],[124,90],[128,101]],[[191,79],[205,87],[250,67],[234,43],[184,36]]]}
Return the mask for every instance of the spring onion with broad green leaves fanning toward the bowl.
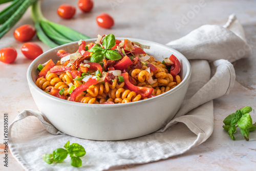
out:
{"label": "spring onion with broad green leaves fanning toward the bowl", "polygon": [[[28,0],[25,0],[28,1]],[[32,0],[30,0],[32,1]],[[36,1],[36,0],[33,0]],[[32,18],[35,22],[35,29],[38,38],[51,48],[69,42],[78,41],[80,39],[88,39],[90,37],[79,33],[71,28],[50,22],[41,12],[40,2],[32,5]]]}

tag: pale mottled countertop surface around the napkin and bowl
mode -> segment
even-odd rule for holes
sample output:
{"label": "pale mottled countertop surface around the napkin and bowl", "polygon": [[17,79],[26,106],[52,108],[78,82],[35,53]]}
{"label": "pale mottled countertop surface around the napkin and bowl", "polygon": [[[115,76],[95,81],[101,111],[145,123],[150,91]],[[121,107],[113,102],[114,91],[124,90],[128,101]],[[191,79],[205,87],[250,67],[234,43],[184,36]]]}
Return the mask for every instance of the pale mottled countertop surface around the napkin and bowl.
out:
{"label": "pale mottled countertop surface around the napkin and bowl", "polygon": [[[228,16],[235,13],[245,29],[253,54],[233,63],[236,71],[234,88],[229,95],[214,100],[215,126],[210,138],[179,156],[148,164],[113,167],[110,170],[256,170],[256,132],[250,133],[249,141],[245,141],[240,134],[235,134],[237,140],[233,141],[222,128],[222,121],[227,115],[246,105],[252,107],[252,120],[256,121],[256,1],[99,0],[94,1],[94,8],[88,14],[82,13],[77,7],[75,17],[70,20],[61,19],[56,14],[57,7],[64,3],[77,7],[77,1],[44,0],[42,12],[52,22],[69,26],[89,37],[113,33],[116,37],[141,38],[161,44],[180,38],[205,24],[222,26]],[[4,7],[6,5],[0,5],[0,10]],[[113,16],[113,28],[102,29],[97,26],[95,18],[102,12]],[[180,25],[177,26],[177,23]],[[15,28],[24,24],[33,25],[30,10],[0,40],[0,49],[13,47],[18,53],[14,63],[7,65],[0,62],[1,159],[4,156],[4,114],[8,114],[10,124],[25,109],[38,111],[26,78],[31,60],[23,56],[20,51],[22,42],[17,42],[12,35]],[[50,49],[36,36],[32,41],[44,52]],[[0,170],[23,170],[11,154],[8,169],[3,165],[1,160]]]}

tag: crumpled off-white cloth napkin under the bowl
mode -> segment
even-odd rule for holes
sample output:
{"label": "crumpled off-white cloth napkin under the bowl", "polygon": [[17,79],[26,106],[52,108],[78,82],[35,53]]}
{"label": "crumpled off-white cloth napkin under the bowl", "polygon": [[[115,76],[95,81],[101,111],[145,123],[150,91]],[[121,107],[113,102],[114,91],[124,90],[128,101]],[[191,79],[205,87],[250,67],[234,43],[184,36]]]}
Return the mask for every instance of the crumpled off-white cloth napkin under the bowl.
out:
{"label": "crumpled off-white cloth napkin under the bowl", "polygon": [[[231,15],[224,27],[204,25],[167,44],[189,59],[192,75],[180,110],[161,130],[129,140],[86,140],[63,134],[39,112],[25,110],[9,127],[12,155],[26,170],[105,170],[187,152],[207,140],[214,129],[212,99],[233,87],[235,73],[230,62],[251,54],[244,35],[236,16]],[[51,165],[42,160],[42,154],[52,153],[67,141],[86,149],[81,167],[72,167],[69,158]]]}

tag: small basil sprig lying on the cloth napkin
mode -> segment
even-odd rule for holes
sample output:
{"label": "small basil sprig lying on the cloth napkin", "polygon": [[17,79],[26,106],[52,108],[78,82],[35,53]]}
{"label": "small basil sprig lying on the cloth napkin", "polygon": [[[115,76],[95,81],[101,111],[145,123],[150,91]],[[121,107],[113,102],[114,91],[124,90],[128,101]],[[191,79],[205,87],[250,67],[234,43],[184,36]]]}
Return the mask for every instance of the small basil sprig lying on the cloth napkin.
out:
{"label": "small basil sprig lying on the cloth napkin", "polygon": [[83,146],[77,143],[72,143],[70,145],[70,142],[68,141],[64,147],[66,149],[57,148],[52,154],[42,155],[42,159],[44,159],[48,164],[52,164],[53,162],[61,162],[65,160],[69,154],[71,157],[70,164],[74,167],[80,167],[82,165],[82,160],[79,157],[86,155],[86,151]]}

